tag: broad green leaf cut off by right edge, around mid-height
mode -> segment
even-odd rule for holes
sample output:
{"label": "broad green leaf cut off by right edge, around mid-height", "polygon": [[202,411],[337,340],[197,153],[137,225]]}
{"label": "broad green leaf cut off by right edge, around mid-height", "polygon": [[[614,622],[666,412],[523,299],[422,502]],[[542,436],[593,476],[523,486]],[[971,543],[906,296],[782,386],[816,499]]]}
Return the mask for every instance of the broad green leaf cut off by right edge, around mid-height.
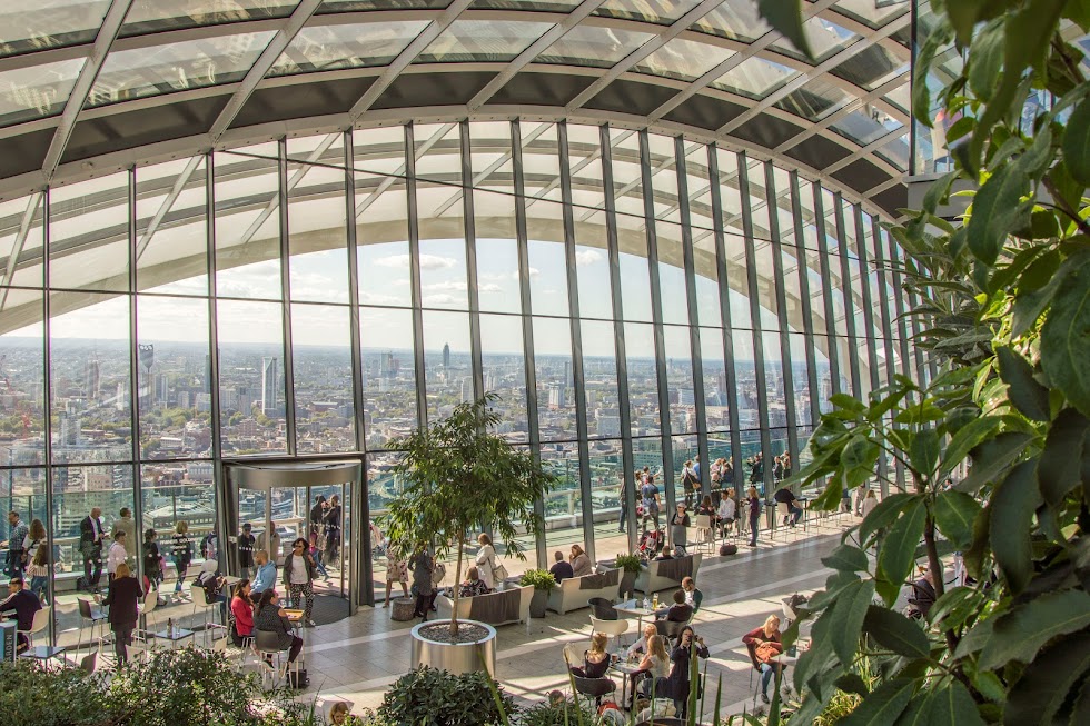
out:
{"label": "broad green leaf cut off by right edge, around mid-height", "polygon": [[1083,263],[1060,284],[1041,328],[1041,366],[1052,385],[1090,416],[1090,255],[1079,257]]}

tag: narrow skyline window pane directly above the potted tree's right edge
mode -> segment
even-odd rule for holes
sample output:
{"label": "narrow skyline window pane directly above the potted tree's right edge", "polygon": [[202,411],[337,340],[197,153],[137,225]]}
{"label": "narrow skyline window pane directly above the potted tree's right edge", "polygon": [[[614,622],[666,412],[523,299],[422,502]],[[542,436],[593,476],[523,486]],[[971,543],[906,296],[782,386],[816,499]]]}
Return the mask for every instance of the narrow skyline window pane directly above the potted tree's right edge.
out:
{"label": "narrow skyline window pane directly above the potted tree's right edge", "polygon": [[534,318],[534,368],[537,371],[537,419],[542,440],[574,439],[578,429],[569,321]]}

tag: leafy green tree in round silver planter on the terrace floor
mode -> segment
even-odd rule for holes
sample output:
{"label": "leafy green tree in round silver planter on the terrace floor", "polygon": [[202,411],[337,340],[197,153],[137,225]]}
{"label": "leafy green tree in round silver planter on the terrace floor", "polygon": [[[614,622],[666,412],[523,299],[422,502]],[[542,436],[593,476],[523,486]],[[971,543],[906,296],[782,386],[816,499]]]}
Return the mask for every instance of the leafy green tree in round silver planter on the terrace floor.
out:
{"label": "leafy green tree in round silver planter on the terrace floor", "polygon": [[[462,581],[465,547],[479,527],[490,526],[494,540],[508,555],[525,559],[516,539],[517,527],[531,536],[544,523],[534,503],[555,478],[527,451],[516,449],[495,432],[501,417],[490,408],[498,400],[486,394],[462,404],[449,418],[396,440],[404,451],[397,473],[402,493],[389,504],[390,538],[427,541],[436,557],[455,554],[455,583]],[[452,673],[494,672],[495,629],[484,623],[458,620],[458,588],[452,593],[452,617],[445,623],[422,623],[413,628],[414,665],[430,665]]]}

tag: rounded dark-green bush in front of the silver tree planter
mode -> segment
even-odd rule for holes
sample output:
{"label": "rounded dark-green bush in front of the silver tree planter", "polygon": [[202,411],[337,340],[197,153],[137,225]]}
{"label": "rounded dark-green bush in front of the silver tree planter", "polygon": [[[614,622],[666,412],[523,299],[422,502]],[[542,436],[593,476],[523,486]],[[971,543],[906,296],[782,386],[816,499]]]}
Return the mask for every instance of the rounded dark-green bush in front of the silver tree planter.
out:
{"label": "rounded dark-green bush in front of the silver tree planter", "polygon": [[485,672],[455,676],[424,666],[394,683],[377,715],[392,724],[488,726],[507,723],[514,708],[514,699]]}

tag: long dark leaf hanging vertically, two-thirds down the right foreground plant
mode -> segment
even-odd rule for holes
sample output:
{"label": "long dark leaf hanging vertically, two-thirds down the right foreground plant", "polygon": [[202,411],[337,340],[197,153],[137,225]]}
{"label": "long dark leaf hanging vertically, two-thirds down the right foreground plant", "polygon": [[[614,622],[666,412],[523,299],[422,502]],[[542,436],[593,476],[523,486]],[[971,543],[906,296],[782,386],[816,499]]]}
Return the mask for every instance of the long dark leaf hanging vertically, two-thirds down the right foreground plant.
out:
{"label": "long dark leaf hanging vertically, two-thirds down the right foreground plant", "polygon": [[1033,571],[1030,528],[1041,495],[1037,489],[1037,461],[1022,461],[995,487],[991,503],[992,553],[1011,591],[1022,591]]}

